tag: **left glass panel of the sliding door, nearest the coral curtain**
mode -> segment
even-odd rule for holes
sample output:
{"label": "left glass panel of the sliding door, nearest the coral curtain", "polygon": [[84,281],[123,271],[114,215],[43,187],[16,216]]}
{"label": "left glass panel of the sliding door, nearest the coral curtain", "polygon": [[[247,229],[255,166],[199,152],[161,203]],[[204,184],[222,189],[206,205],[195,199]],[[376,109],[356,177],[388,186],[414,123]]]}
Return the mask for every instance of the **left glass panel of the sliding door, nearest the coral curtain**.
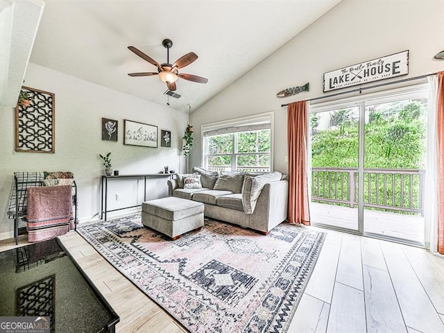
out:
{"label": "left glass panel of the sliding door, nearest the coral curtain", "polygon": [[358,230],[359,106],[310,114],[314,223]]}

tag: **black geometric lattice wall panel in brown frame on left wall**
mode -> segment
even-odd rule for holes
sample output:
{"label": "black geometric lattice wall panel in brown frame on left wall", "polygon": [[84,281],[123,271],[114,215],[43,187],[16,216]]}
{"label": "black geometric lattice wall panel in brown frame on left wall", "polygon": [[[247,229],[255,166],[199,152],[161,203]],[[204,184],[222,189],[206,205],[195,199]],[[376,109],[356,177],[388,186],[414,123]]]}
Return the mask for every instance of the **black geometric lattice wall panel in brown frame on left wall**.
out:
{"label": "black geometric lattice wall panel in brown frame on left wall", "polygon": [[31,105],[15,108],[15,151],[54,153],[54,94],[29,87]]}

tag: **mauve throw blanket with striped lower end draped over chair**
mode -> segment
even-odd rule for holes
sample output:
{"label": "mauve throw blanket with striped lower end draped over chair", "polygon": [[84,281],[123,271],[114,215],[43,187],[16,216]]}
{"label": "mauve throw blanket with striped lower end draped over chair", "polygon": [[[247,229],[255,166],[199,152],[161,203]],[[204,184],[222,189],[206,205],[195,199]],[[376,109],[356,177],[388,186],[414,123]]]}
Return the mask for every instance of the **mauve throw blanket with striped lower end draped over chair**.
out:
{"label": "mauve throw blanket with striped lower end draped over chair", "polygon": [[28,188],[28,241],[44,241],[72,228],[71,185]]}

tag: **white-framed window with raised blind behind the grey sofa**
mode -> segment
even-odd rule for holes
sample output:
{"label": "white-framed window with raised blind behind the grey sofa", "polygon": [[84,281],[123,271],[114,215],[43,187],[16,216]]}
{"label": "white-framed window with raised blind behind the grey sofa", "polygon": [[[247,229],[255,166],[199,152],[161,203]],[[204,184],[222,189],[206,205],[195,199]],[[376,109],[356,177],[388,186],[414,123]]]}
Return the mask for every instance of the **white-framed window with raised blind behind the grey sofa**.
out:
{"label": "white-framed window with raised blind behind the grey sofa", "polygon": [[271,116],[203,126],[205,169],[271,171]]}

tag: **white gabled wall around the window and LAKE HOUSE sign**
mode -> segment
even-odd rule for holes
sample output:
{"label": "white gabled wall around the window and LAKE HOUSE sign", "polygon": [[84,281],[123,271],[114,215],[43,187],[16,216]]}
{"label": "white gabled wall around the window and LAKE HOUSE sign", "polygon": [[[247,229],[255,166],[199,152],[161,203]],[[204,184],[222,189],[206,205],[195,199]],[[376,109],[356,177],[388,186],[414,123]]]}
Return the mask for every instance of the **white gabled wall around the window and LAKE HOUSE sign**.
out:
{"label": "white gabled wall around the window and LAKE HOUSE sign", "polygon": [[[323,73],[327,71],[404,50],[409,50],[409,75],[402,78],[442,71],[444,61],[433,56],[443,49],[442,0],[343,0],[192,113],[196,145],[191,165],[201,164],[201,124],[274,111],[274,169],[287,172],[287,108],[281,104],[323,96]],[[284,99],[275,96],[281,89],[307,82],[309,92]]]}

